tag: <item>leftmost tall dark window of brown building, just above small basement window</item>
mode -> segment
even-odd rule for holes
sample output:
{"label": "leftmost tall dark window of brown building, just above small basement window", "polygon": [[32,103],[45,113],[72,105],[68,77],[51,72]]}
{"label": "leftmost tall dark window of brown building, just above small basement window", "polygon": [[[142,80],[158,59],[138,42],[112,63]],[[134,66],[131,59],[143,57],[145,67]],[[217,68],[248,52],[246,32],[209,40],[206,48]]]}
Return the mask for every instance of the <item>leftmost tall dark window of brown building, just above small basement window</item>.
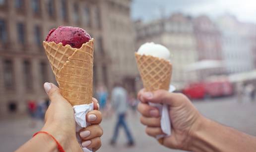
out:
{"label": "leftmost tall dark window of brown building, just above small basement window", "polygon": [[6,90],[14,89],[13,63],[11,60],[4,60],[3,71],[4,88]]}

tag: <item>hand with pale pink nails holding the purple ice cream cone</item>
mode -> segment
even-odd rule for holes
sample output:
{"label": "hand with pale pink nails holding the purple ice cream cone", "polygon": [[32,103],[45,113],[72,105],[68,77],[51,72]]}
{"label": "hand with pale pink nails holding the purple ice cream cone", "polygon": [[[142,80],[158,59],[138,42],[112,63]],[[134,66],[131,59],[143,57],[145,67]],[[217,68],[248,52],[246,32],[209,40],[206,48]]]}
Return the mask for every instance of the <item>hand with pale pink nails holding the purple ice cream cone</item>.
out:
{"label": "hand with pale pink nails holding the purple ice cream cone", "polygon": [[[76,140],[74,111],[71,104],[61,96],[59,88],[54,84],[45,83],[44,88],[51,100],[51,104],[46,111],[45,125],[42,131],[52,134],[61,143],[66,152],[82,152]],[[94,109],[98,109],[98,101],[94,98],[92,101],[94,102]],[[101,146],[100,137],[103,132],[98,125],[101,120],[101,112],[98,110],[92,110],[86,115],[86,121],[90,122],[92,126],[83,129],[89,131],[90,134],[87,138],[83,138],[83,142],[86,140],[87,145],[82,145],[92,148],[93,151],[98,150]]]}

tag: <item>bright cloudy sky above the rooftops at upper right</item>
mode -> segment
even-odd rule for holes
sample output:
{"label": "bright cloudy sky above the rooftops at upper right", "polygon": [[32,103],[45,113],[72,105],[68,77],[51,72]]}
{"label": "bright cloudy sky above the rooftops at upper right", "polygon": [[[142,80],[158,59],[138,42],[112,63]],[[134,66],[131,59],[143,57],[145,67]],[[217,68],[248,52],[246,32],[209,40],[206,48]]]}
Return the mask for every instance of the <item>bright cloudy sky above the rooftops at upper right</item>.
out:
{"label": "bright cloudy sky above the rooftops at upper right", "polygon": [[148,21],[177,11],[213,18],[231,13],[241,21],[256,23],[256,0],[133,0],[131,15],[133,19]]}

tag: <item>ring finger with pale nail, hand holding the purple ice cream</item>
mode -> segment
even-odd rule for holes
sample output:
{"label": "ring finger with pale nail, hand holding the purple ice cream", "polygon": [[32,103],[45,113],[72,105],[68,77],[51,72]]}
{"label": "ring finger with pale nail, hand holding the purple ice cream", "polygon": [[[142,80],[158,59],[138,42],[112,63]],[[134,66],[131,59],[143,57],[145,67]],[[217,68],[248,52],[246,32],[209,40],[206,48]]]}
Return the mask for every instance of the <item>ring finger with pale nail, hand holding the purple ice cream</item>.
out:
{"label": "ring finger with pale nail, hand holding the purple ice cream", "polygon": [[87,126],[80,130],[80,137],[82,140],[90,140],[96,137],[101,137],[103,135],[103,130],[99,125]]}

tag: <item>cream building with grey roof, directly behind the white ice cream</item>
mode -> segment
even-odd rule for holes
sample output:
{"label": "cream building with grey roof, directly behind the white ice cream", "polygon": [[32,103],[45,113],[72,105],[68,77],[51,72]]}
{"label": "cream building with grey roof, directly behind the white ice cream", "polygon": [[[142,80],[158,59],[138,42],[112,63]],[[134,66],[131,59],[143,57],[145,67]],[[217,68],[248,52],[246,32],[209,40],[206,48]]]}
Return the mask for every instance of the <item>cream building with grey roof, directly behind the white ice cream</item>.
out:
{"label": "cream building with grey roof, directly behind the white ice cream", "polygon": [[186,66],[198,60],[196,38],[192,18],[175,13],[168,18],[148,23],[136,21],[136,49],[146,42],[166,46],[171,54],[173,64],[172,84],[178,89],[185,84],[197,81],[197,71],[187,71]]}

